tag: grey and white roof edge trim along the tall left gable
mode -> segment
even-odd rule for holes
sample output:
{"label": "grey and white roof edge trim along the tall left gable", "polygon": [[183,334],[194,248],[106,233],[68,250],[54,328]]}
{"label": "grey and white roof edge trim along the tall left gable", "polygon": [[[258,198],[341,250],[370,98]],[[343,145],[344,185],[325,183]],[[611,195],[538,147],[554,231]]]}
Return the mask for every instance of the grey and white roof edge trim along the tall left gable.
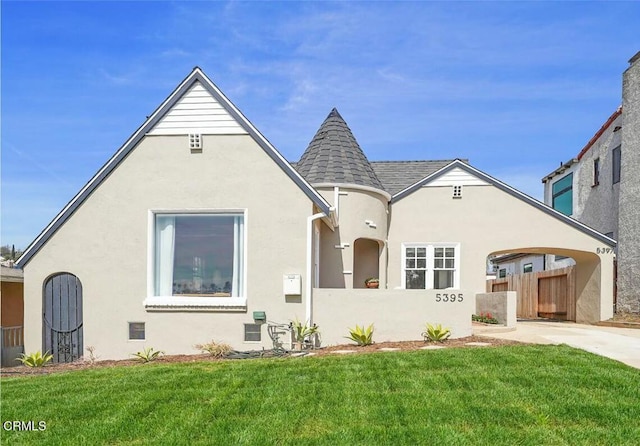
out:
{"label": "grey and white roof edge trim along the tall left gable", "polygon": [[276,148],[256,129],[240,110],[218,89],[218,87],[199,68],[193,71],[176,87],[176,89],[160,104],[160,106],[147,118],[120,149],[103,165],[100,170],[89,180],[87,184],[76,194],[73,199],[60,211],[49,225],[29,245],[17,265],[24,267],[29,260],[40,250],[49,238],[62,226],[71,215],[82,205],[91,193],[118,167],[127,155],[136,147],[144,136],[162,120],[162,118],[180,101],[180,99],[194,86],[200,83],[204,89],[220,103],[222,108],[229,113],[237,123],[246,131],[254,141],[271,157],[271,159],[300,187],[321,212],[329,216],[329,203],[284,159]]}

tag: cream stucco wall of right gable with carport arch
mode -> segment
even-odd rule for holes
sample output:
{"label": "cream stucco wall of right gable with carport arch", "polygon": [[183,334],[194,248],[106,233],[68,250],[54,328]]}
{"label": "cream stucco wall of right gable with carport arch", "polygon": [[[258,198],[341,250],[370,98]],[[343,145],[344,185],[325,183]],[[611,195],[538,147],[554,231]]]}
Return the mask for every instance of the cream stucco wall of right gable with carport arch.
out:
{"label": "cream stucco wall of right gable with carport arch", "polygon": [[611,317],[613,254],[602,252],[597,239],[494,186],[465,186],[462,199],[452,199],[448,187],[421,188],[393,203],[391,213],[390,288],[404,286],[403,242],[460,243],[460,288],[474,293],[485,290],[488,254],[555,252],[573,257],[581,266],[577,319]]}

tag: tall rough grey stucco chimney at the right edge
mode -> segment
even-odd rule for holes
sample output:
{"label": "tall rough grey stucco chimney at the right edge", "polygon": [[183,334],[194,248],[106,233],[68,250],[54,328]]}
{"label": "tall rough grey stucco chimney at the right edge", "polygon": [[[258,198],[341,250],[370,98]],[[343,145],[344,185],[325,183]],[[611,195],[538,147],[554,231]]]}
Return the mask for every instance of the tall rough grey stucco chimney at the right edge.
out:
{"label": "tall rough grey stucco chimney at the right edge", "polygon": [[640,312],[640,53],[622,84],[618,310]]}

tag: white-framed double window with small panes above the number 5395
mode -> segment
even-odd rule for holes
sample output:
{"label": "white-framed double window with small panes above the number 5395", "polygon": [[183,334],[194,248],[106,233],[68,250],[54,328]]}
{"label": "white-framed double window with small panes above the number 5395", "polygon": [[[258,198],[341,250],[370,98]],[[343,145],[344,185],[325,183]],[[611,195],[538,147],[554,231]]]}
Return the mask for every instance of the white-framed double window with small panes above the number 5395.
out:
{"label": "white-framed double window with small panes above the number 5395", "polygon": [[415,243],[403,245],[402,274],[406,289],[458,288],[458,244]]}

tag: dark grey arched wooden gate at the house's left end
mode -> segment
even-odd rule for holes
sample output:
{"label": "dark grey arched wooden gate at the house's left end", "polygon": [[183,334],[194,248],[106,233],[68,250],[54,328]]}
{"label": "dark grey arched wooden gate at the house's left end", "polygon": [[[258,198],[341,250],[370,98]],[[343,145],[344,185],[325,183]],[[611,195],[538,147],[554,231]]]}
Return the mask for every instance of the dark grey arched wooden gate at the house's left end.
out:
{"label": "dark grey arched wooden gate at the house's left end", "polygon": [[53,362],[82,357],[82,284],[73,274],[56,274],[46,281],[42,333],[43,348]]}

